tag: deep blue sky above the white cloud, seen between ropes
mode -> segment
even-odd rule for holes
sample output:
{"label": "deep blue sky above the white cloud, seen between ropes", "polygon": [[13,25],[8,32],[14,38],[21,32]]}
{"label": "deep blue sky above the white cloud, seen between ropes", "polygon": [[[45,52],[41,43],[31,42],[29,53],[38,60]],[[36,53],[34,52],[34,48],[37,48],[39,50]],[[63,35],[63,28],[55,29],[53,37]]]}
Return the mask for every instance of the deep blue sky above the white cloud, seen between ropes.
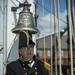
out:
{"label": "deep blue sky above the white cloud, seen between ropes", "polygon": [[[44,2],[44,7],[47,9],[45,9],[46,13],[49,13],[50,11],[50,0],[38,0],[38,7],[39,10],[42,11],[42,1]],[[56,0],[58,1],[58,0]],[[52,0],[53,3],[53,0]],[[60,0],[60,12],[64,12],[64,10],[66,9],[66,0]]]}

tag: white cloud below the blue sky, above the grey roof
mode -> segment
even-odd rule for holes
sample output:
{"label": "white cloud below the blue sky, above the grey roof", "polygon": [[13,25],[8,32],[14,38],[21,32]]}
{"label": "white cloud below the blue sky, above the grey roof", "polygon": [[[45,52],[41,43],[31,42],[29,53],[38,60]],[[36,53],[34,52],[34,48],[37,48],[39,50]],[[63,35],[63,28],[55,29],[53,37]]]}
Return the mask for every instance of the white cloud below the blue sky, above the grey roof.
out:
{"label": "white cloud below the blue sky, above the grey roof", "polygon": [[[52,15],[52,32],[54,31],[54,15]],[[60,13],[60,29],[66,27],[66,10]],[[56,18],[57,20],[57,18]],[[58,27],[58,22],[56,21],[56,28]],[[50,13],[38,18],[38,29],[42,35],[50,33]]]}

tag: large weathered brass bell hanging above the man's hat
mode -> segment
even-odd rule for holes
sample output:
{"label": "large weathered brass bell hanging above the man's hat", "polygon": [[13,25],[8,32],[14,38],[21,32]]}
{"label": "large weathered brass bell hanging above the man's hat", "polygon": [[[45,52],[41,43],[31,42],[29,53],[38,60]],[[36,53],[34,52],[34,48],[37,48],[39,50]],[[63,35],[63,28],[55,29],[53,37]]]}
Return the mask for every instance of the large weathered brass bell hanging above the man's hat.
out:
{"label": "large weathered brass bell hanging above the man's hat", "polygon": [[[22,6],[22,5],[21,5]],[[33,18],[33,14],[30,12],[29,7],[31,6],[28,4],[27,0],[23,4],[24,8],[22,12],[19,13],[19,20],[17,25],[12,29],[13,33],[18,33],[23,30],[28,30],[32,34],[35,34],[38,32],[38,29],[36,28],[36,25],[34,24],[35,20]]]}

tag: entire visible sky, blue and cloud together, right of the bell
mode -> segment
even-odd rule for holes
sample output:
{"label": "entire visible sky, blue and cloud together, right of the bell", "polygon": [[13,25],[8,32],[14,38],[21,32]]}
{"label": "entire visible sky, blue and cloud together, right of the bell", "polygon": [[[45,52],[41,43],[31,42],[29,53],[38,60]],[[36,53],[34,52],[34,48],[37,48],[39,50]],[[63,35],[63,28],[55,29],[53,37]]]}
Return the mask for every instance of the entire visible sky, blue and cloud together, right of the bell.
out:
{"label": "entire visible sky, blue and cloud together, right of the bell", "polygon": [[[44,15],[43,15],[42,1],[44,3]],[[48,34],[50,33],[50,14],[52,14],[52,16],[54,17],[54,12],[52,11],[52,13],[50,13],[50,0],[38,0],[38,8],[39,8],[38,29],[40,30],[40,33],[42,35],[44,35],[44,33]],[[52,5],[52,10],[53,10],[53,5]],[[62,30],[67,26],[66,15],[67,15],[66,0],[60,0],[60,18],[61,18],[60,30]],[[54,24],[54,21],[52,22],[52,24]]]}

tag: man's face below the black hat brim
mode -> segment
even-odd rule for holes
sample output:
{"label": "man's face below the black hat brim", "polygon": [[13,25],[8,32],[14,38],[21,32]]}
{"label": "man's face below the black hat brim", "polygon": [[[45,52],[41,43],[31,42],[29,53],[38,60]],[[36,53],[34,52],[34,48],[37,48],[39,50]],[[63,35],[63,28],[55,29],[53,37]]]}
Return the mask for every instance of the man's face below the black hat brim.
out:
{"label": "man's face below the black hat brim", "polygon": [[26,61],[30,61],[33,58],[34,46],[21,47],[19,53],[23,56]]}

